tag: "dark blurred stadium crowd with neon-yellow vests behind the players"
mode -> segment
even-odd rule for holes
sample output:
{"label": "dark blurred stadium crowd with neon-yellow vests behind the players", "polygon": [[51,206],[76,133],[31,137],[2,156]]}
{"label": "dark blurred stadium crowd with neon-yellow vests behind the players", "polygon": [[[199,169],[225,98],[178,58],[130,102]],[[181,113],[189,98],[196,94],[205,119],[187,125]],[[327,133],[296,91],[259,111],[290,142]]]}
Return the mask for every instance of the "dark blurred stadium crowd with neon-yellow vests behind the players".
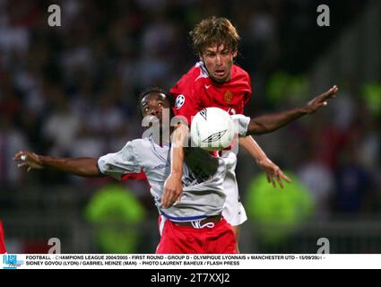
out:
{"label": "dark blurred stadium crowd with neon-yellow vests behind the players", "polygon": [[[61,27],[48,26],[59,4]],[[328,4],[330,27],[316,25]],[[252,77],[246,114],[300,105],[333,84],[315,116],[256,137],[294,184],[273,189],[244,151],[243,253],[381,252],[381,3],[369,1],[0,0],[0,218],[10,253],[152,253],[157,211],[141,181],[17,170],[19,150],[99,157],[142,135],[137,95],[195,63],[187,33],[228,17]],[[256,180],[253,182],[253,180]],[[117,185],[115,185],[117,184]]]}

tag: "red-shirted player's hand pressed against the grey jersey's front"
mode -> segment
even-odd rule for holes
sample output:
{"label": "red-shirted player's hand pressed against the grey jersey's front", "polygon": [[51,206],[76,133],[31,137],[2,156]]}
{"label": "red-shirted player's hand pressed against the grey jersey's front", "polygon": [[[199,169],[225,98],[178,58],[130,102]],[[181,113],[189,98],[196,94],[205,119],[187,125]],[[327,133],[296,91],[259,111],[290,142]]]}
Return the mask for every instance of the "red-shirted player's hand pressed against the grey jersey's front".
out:
{"label": "red-shirted player's hand pressed against the grey jersey's front", "polygon": [[164,183],[161,206],[163,208],[169,208],[180,200],[182,194],[183,184],[181,182],[181,176],[176,173],[171,173]]}

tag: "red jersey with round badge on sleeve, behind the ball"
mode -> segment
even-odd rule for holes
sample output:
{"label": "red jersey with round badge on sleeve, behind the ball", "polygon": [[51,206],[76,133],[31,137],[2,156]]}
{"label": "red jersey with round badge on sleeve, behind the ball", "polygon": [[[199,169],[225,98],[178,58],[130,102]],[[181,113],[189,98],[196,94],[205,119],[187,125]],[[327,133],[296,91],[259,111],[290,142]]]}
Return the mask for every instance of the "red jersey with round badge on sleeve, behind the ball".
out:
{"label": "red jersey with round badge on sleeve, behind the ball", "polygon": [[250,77],[238,65],[232,65],[230,80],[227,83],[212,81],[203,65],[198,62],[170,90],[176,99],[174,113],[191,117],[204,108],[216,107],[229,114],[243,114],[244,107],[251,98]]}

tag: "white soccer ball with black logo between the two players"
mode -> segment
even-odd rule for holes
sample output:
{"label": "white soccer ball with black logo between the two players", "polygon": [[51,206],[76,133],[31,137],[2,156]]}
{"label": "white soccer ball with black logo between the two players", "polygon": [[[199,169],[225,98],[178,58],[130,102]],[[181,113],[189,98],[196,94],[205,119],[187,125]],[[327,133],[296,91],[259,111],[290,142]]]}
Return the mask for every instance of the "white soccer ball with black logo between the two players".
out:
{"label": "white soccer ball with black logo between the two players", "polygon": [[191,138],[203,150],[221,151],[234,139],[233,120],[223,109],[202,109],[192,120]]}

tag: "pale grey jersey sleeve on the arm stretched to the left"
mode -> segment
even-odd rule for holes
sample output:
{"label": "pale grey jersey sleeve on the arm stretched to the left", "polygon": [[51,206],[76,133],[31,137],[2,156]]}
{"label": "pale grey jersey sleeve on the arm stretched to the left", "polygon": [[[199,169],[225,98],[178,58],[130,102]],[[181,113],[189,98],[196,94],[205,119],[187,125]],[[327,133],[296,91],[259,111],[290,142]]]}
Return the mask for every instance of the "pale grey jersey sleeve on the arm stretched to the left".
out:
{"label": "pale grey jersey sleeve on the arm stretched to the left", "polygon": [[128,173],[139,173],[141,167],[134,152],[134,143],[128,142],[121,151],[101,156],[98,167],[102,174],[118,180]]}

